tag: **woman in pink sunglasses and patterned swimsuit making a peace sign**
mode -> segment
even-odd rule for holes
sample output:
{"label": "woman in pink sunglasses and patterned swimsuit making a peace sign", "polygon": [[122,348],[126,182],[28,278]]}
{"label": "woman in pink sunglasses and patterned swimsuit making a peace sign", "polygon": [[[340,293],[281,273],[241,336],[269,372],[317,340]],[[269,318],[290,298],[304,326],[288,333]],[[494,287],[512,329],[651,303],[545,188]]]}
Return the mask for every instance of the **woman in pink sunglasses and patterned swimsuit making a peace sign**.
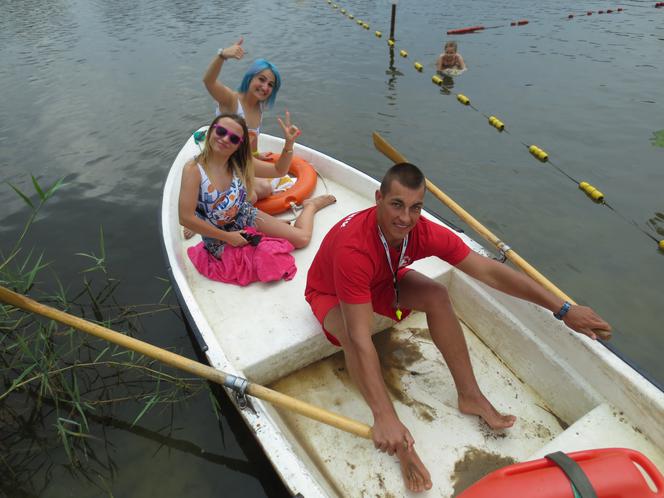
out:
{"label": "woman in pink sunglasses and patterned swimsuit making a peace sign", "polygon": [[[282,157],[289,158],[298,129],[290,124],[289,116],[285,123],[279,119],[279,124],[286,139]],[[187,162],[182,172],[180,223],[201,234],[206,249],[217,258],[225,244],[246,245],[248,241],[242,234],[250,226],[286,239],[296,248],[304,247],[311,240],[316,212],[336,201],[331,195],[307,199],[293,226],[256,209],[250,202],[254,176],[272,175],[275,168],[252,160],[248,138],[243,118],[236,114],[217,116],[207,131],[203,151]]]}

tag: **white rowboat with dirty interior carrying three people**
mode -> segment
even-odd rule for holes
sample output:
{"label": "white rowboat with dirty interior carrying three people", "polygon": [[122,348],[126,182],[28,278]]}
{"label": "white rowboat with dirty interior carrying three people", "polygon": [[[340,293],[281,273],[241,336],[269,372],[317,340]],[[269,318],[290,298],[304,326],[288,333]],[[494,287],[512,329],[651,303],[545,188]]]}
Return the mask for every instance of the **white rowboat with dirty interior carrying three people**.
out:
{"label": "white rowboat with dirty interior carrying three people", "polygon": [[[282,146],[283,140],[261,134],[259,150],[278,152]],[[186,254],[200,239],[182,236],[180,178],[185,162],[198,152],[190,137],[171,167],[161,229],[173,286],[210,365],[371,425],[371,412],[350,381],[342,354],[324,338],[304,300],[304,286],[324,235],[345,215],[371,206],[378,182],[296,145],[295,154],[325,179],[314,195],[329,191],[337,203],[316,215],[311,244],[293,253],[298,268],[293,280],[241,288],[199,275]],[[459,413],[425,317],[413,313],[399,324],[377,319],[376,330],[390,329],[374,336],[383,376],[432,474],[433,488],[421,496],[453,496],[495,468],[558,450],[631,448],[664,471],[661,390],[548,310],[495,291],[435,258],[413,268],[447,286],[482,390],[498,410],[518,417],[513,428],[496,433],[477,417]],[[377,452],[371,441],[258,399],[251,405],[241,414],[293,495],[410,496],[396,458]]]}

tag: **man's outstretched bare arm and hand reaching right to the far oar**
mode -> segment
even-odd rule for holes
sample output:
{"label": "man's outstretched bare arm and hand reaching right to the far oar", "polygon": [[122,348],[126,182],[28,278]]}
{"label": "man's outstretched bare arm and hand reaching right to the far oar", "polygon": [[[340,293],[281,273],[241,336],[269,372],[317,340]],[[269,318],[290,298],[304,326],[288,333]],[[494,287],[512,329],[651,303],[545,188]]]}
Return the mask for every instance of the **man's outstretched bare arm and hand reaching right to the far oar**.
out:
{"label": "man's outstretched bare arm and hand reaching right to the far oar", "polygon": [[[538,304],[553,313],[558,312],[564,303],[530,277],[473,251],[456,267],[494,289]],[[592,339],[597,339],[593,329],[611,330],[611,326],[587,306],[572,306],[563,320],[572,330]]]}

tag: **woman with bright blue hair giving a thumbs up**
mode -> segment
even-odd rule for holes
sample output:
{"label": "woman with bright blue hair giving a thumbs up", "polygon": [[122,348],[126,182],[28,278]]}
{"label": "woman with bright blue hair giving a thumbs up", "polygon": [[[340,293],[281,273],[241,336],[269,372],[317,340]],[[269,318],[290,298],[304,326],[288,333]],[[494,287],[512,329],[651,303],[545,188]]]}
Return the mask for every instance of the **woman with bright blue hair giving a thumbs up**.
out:
{"label": "woman with bright blue hair giving a thumbs up", "polygon": [[[251,150],[255,156],[261,158],[257,152],[257,145],[263,122],[263,110],[274,105],[281,86],[281,76],[274,64],[265,59],[257,59],[244,74],[237,91],[233,91],[221,83],[217,78],[221,73],[224,61],[239,60],[244,57],[243,42],[244,38],[240,37],[230,47],[219,49],[217,56],[212,59],[205,71],[203,83],[208,93],[217,102],[215,109],[217,115],[222,112],[231,112],[244,118],[251,137]],[[288,170],[280,171],[280,173],[276,176],[284,176]],[[257,199],[263,199],[272,194],[272,185],[267,180],[258,179],[254,188]]]}

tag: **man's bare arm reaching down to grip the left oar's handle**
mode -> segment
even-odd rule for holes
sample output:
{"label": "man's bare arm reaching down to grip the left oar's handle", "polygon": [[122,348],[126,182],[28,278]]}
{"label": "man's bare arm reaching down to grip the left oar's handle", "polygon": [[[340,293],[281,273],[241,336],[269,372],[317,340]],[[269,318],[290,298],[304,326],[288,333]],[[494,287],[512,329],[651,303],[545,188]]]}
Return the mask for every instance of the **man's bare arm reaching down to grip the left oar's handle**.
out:
{"label": "man's bare arm reaching down to grip the left oar's handle", "polygon": [[397,417],[383,380],[378,353],[371,340],[373,323],[371,303],[340,302],[340,305],[346,335],[341,337],[344,353],[353,381],[373,413],[374,445],[390,455],[403,449],[404,443],[408,446],[408,450],[412,450],[413,437]]}

